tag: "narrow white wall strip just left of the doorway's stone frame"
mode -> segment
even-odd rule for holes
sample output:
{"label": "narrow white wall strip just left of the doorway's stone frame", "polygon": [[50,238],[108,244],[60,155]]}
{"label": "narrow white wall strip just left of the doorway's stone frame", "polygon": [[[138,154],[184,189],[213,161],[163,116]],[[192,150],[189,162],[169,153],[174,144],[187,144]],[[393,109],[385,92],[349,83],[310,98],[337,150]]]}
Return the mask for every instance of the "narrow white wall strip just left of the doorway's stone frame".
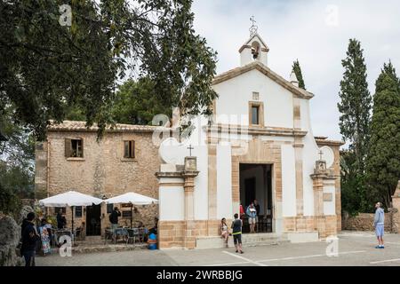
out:
{"label": "narrow white wall strip just left of the doorway's stone frame", "polygon": [[231,147],[217,146],[217,217],[233,218]]}

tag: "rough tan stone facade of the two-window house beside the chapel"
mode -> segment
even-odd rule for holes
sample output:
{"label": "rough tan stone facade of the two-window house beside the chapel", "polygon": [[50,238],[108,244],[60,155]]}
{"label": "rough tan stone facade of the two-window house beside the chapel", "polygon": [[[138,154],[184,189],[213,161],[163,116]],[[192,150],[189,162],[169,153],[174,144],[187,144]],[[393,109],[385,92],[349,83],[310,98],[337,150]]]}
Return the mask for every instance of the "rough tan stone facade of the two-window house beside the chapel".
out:
{"label": "rough tan stone facade of the two-window house beside the chapel", "polygon": [[[158,198],[158,182],[154,173],[159,169],[158,148],[152,142],[154,128],[117,124],[108,128],[97,140],[97,129],[87,129],[84,122],[63,122],[48,128],[47,140],[36,144],[36,199],[43,199],[69,190],[99,198],[109,198],[134,192]],[[66,138],[82,138],[84,156],[65,155]],[[135,141],[135,158],[124,158],[124,141]],[[119,206],[120,207],[120,206]],[[120,207],[121,209],[121,207]],[[130,210],[129,208],[122,208]],[[50,214],[54,210],[50,209]],[[137,206],[133,220],[154,226],[158,215],[156,205]],[[67,222],[71,210],[67,209]],[[120,217],[120,225],[130,225],[130,218]],[[83,216],[75,218],[74,225],[85,222]],[[101,205],[101,229],[109,226],[106,204]],[[103,230],[102,230],[103,231]]]}

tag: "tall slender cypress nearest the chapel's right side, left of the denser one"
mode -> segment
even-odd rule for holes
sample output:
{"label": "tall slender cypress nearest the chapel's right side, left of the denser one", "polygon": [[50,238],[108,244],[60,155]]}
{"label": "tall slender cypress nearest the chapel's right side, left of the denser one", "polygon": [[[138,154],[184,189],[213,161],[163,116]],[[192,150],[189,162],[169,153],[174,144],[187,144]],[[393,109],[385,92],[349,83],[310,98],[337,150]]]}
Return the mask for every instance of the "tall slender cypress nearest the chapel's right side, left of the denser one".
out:
{"label": "tall slender cypress nearest the chapel's right side, left of the denser one", "polygon": [[361,43],[350,39],[347,58],[342,60],[345,68],[340,82],[340,133],[356,154],[354,166],[364,174],[364,160],[370,138],[372,98],[366,82],[366,66]]}

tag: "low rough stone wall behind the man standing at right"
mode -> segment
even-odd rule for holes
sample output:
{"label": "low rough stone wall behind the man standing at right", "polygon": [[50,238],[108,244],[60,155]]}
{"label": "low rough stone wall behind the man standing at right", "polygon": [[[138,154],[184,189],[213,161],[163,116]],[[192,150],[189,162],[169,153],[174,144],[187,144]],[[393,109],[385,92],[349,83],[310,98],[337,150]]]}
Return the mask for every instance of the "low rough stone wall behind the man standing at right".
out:
{"label": "low rough stone wall behind the man standing at right", "polygon": [[[385,213],[385,231],[392,231],[392,213]],[[343,214],[341,228],[350,231],[374,231],[373,213],[359,213],[356,217],[345,217]]]}

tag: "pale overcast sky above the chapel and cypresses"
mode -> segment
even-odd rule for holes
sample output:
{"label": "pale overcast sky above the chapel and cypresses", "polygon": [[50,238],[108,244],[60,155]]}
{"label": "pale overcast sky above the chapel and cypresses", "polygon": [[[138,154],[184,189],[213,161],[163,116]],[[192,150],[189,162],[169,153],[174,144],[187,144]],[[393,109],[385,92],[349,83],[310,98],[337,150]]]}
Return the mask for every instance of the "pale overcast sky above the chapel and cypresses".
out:
{"label": "pale overcast sky above the chapel and cypresses", "polygon": [[391,59],[400,72],[398,0],[195,0],[193,11],[196,32],[218,51],[217,73],[239,66],[252,15],[270,49],[268,67],[289,79],[299,59],[306,88],[315,94],[316,136],[341,138],[337,103],[349,38],[361,41],[372,94],[384,62]]}

